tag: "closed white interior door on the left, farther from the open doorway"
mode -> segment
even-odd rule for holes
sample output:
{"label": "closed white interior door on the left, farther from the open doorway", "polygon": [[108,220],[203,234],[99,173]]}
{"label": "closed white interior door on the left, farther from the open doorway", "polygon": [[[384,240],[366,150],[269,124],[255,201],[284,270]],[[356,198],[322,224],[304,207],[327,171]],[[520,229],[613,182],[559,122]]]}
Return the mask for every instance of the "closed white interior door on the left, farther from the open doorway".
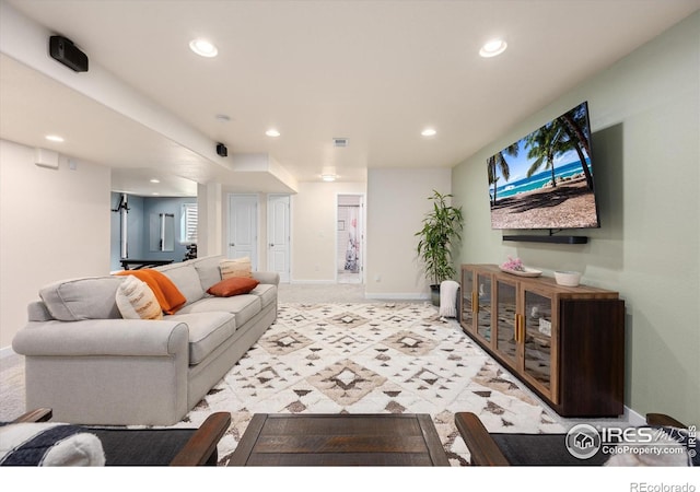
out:
{"label": "closed white interior door on the left, farther from the open doorway", "polygon": [[229,258],[250,258],[258,269],[258,196],[229,195]]}

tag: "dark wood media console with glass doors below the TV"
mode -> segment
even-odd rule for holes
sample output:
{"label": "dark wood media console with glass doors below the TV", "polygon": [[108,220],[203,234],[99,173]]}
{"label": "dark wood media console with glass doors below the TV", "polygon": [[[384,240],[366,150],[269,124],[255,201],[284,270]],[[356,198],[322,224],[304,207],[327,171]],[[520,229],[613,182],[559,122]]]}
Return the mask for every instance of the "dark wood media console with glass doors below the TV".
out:
{"label": "dark wood media console with glass doors below the TV", "polygon": [[623,412],[625,302],[495,265],[463,265],[460,324],[562,417]]}

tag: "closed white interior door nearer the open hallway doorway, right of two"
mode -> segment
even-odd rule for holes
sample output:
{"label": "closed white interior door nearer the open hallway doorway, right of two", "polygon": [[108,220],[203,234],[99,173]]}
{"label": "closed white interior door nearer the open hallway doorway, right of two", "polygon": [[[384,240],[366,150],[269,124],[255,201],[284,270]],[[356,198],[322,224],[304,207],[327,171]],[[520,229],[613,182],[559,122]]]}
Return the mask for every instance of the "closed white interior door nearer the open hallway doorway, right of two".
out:
{"label": "closed white interior door nearer the open hallway doorway, right of two", "polygon": [[267,199],[267,263],[269,271],[290,281],[290,213],[289,195],[269,195]]}

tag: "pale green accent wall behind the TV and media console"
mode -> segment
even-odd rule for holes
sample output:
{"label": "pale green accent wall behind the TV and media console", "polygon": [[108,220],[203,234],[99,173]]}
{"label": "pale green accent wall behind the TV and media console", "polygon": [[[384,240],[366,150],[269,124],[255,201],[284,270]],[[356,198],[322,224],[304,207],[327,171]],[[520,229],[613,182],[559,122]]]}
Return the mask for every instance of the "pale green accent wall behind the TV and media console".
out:
{"label": "pale green accent wall behind the TV and media console", "polygon": [[[586,245],[503,242],[503,232],[490,224],[487,157],[583,101],[591,112],[600,229],[571,232],[587,235]],[[626,302],[626,406],[697,425],[699,176],[696,12],[526,120],[513,121],[506,134],[453,169],[455,203],[466,221],[458,262],[520,257],[545,274],[579,270],[582,283],[619,292]]]}

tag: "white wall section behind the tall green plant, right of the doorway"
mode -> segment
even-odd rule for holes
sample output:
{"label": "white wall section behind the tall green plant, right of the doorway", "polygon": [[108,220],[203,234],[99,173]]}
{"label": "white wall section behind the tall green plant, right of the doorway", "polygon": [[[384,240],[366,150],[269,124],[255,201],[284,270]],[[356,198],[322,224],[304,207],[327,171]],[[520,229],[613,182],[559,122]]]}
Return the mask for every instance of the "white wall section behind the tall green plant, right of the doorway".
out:
{"label": "white wall section behind the tall green plant, right of the doorway", "polygon": [[374,168],[368,174],[366,296],[429,298],[418,263],[417,231],[422,227],[433,189],[451,190],[450,168]]}

